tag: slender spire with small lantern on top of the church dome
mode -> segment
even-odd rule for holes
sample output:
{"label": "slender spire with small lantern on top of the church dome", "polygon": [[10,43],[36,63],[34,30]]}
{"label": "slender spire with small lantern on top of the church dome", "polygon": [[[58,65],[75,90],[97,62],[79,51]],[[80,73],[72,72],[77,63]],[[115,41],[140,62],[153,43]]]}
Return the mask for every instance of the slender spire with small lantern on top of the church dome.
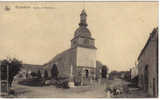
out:
{"label": "slender spire with small lantern on top of the church dome", "polygon": [[84,27],[88,26],[88,24],[87,24],[87,14],[86,14],[86,12],[85,12],[84,9],[82,10],[82,12],[80,14],[80,23],[79,23],[79,26],[80,27],[82,27],[82,26],[84,26]]}

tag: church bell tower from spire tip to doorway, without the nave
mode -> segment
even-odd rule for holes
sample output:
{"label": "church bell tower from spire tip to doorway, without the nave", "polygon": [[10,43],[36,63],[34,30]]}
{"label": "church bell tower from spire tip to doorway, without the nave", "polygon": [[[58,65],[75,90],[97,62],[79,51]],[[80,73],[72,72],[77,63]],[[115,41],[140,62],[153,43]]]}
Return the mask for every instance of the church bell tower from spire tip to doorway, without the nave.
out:
{"label": "church bell tower from spire tip to doorway, without the nave", "polygon": [[87,26],[87,14],[85,10],[82,10],[79,27],[71,40],[71,49],[75,51],[76,76],[80,79],[82,77],[94,79],[96,70],[97,48],[95,47],[95,39],[92,38]]}

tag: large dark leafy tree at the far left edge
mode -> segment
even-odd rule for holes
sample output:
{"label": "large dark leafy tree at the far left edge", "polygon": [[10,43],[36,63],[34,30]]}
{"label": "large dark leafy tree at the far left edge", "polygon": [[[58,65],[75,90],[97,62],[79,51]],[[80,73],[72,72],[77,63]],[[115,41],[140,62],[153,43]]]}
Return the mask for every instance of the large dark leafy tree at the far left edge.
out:
{"label": "large dark leafy tree at the far left edge", "polygon": [[8,86],[11,87],[14,76],[18,74],[21,67],[22,62],[17,60],[16,58],[4,59],[1,62],[1,80],[7,80]]}

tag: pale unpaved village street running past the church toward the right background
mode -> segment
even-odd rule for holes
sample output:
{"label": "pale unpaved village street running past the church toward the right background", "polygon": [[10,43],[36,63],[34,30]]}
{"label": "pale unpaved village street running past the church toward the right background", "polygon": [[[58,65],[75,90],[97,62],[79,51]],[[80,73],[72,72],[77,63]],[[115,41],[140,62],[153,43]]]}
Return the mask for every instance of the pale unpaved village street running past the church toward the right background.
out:
{"label": "pale unpaved village street running past the church toward the right background", "polygon": [[[107,80],[101,86],[75,87],[70,89],[56,88],[55,86],[26,86],[14,83],[18,98],[107,98],[105,92],[108,86],[126,84],[123,80]],[[130,93],[117,95],[114,98],[141,98],[147,97],[143,91],[133,90]]]}

